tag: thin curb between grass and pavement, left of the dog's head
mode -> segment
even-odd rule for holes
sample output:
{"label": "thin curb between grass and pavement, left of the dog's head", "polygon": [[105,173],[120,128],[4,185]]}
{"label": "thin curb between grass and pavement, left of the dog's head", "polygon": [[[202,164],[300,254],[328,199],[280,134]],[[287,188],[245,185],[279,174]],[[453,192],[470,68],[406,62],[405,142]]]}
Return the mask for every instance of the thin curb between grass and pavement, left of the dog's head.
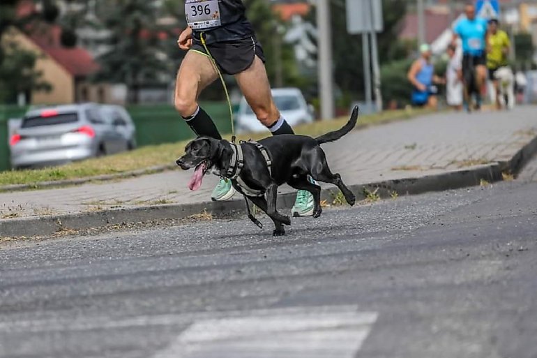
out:
{"label": "thin curb between grass and pavement, left of the dog's head", "polygon": [[122,172],[117,174],[105,174],[105,175],[96,175],[95,177],[86,177],[80,179],[66,179],[66,180],[56,180],[56,181],[40,181],[35,184],[13,184],[0,186],[0,193],[5,191],[24,191],[30,189],[43,189],[43,188],[61,188],[65,186],[73,186],[86,184],[90,181],[107,181],[114,179],[125,179],[131,177],[139,177],[140,175],[146,174],[155,174],[160,172],[165,172],[166,170],[175,169],[177,165],[168,164],[168,165],[157,165],[154,167],[147,167],[145,169],[131,170],[130,172]]}

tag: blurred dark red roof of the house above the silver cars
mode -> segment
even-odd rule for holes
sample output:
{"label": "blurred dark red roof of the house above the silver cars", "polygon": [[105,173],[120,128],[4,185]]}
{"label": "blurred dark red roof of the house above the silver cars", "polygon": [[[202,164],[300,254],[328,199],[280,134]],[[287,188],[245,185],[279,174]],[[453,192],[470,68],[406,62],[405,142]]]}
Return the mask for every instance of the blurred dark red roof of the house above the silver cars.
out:
{"label": "blurred dark red roof of the house above the silver cars", "polygon": [[84,77],[99,69],[91,54],[82,47],[68,48],[61,45],[61,28],[58,25],[47,25],[46,30],[31,33],[31,40],[71,75]]}

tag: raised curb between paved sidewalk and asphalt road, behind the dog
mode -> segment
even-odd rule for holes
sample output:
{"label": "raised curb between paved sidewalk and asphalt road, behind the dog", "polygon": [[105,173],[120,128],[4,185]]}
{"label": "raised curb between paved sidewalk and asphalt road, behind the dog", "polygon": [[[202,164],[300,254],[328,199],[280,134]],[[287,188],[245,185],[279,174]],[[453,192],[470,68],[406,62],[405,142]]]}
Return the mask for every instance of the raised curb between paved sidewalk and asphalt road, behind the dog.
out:
{"label": "raised curb between paved sidewalk and asphalt road, behind the dog", "polygon": [[[398,195],[415,195],[428,191],[445,191],[467,186],[479,185],[481,179],[489,182],[502,179],[503,172],[517,173],[537,153],[537,137],[510,158],[500,161],[471,167],[466,170],[457,170],[441,174],[425,175],[423,177],[409,177],[393,179],[369,184],[354,184],[349,186],[356,195],[357,200],[365,199],[364,188],[375,191],[381,197],[388,197],[394,191]],[[322,200],[333,200],[337,189],[322,190]],[[278,196],[278,207],[290,209],[294,204],[294,193]],[[195,204],[167,204],[149,207],[133,207],[127,209],[109,209],[98,212],[50,216],[45,218],[20,218],[0,221],[1,236],[4,237],[32,237],[37,235],[50,235],[55,232],[71,229],[82,230],[98,228],[106,225],[123,223],[137,223],[159,219],[181,219],[206,211],[213,216],[236,215],[245,212],[245,204],[240,200],[228,202],[199,202]]]}

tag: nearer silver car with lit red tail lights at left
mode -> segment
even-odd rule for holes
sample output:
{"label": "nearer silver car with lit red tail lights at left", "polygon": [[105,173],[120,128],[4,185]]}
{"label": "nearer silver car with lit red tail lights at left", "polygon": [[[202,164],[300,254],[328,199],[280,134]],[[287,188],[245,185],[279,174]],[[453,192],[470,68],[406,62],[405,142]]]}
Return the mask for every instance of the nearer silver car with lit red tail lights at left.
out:
{"label": "nearer silver car with lit red tail lights at left", "polygon": [[95,103],[30,110],[10,136],[11,165],[58,165],[128,149],[121,125],[112,122]]}

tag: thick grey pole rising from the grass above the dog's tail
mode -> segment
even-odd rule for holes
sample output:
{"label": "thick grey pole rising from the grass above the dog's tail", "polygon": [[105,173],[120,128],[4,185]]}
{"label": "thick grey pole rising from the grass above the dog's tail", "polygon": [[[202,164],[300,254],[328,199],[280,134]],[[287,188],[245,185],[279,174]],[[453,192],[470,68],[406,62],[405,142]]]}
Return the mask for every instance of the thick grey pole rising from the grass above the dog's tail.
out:
{"label": "thick grey pole rising from the grass above the dog's tail", "polygon": [[319,96],[321,98],[321,118],[332,119],[334,116],[334,98],[332,83],[332,36],[330,27],[330,6],[328,0],[317,0],[318,38],[318,73]]}

